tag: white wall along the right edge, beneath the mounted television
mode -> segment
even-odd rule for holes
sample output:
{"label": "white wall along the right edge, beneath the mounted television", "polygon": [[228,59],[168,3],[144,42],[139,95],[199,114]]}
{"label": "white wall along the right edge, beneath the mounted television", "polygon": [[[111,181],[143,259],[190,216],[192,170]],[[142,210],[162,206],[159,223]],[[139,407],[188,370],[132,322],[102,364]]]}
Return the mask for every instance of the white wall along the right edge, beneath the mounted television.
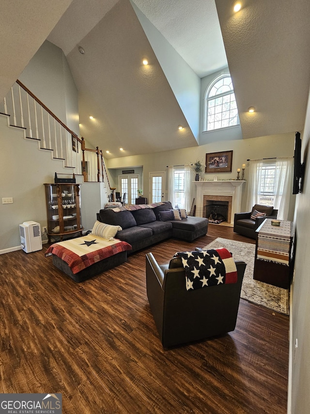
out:
{"label": "white wall along the right edge, beneath the mounted television", "polygon": [[[310,407],[310,95],[302,136],[302,160],[306,161],[303,192],[296,196],[296,257],[292,284],[290,332],[290,385],[288,413],[309,413]],[[295,341],[297,349],[295,351]]]}

